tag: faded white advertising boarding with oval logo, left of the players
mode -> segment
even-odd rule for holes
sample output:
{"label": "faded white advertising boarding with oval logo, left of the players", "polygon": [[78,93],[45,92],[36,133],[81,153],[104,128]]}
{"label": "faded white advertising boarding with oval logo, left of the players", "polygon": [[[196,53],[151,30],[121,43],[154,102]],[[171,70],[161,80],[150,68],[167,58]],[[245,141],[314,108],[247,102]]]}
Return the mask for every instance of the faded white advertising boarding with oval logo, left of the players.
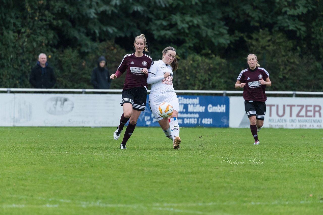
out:
{"label": "faded white advertising boarding with oval logo, left of the players", "polygon": [[1,93],[0,126],[118,126],[120,94]]}

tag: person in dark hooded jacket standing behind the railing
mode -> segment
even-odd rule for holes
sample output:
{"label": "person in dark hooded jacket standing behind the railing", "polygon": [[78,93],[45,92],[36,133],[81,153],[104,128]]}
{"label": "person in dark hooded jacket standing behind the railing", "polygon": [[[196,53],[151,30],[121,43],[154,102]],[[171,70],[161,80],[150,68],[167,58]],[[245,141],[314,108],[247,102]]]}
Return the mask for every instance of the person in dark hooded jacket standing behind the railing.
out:
{"label": "person in dark hooded jacket standing behind the railing", "polygon": [[105,67],[107,60],[101,56],[98,59],[98,67],[92,71],[91,83],[94,89],[110,89],[111,79],[109,78],[109,71]]}

